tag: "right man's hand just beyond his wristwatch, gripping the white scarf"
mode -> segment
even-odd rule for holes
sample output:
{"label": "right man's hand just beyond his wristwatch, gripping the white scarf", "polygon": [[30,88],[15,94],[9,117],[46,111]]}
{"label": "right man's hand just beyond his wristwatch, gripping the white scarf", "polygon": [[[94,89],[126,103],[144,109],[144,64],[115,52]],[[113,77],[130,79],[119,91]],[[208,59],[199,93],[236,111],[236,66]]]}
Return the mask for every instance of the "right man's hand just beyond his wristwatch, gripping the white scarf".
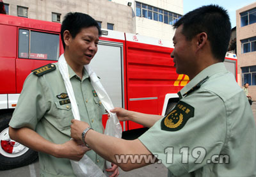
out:
{"label": "right man's hand just beyond his wristwatch, gripping the white scarf", "polygon": [[88,123],[84,122],[84,121],[79,121],[76,119],[72,119],[71,120],[72,125],[71,127],[71,137],[76,139],[77,142],[82,142],[82,133],[84,131],[85,128],[90,127],[88,125]]}

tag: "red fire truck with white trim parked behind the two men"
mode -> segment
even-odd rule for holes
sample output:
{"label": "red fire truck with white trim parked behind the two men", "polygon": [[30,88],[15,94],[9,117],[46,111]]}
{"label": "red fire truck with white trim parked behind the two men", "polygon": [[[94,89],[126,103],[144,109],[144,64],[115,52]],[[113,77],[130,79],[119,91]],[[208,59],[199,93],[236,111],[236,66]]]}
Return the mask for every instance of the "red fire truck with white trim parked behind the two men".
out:
{"label": "red fire truck with white trim parked behind the two men", "polygon": [[[36,158],[35,151],[10,139],[8,123],[31,70],[57,62],[63,53],[60,29],[61,24],[55,22],[0,14],[2,170],[27,165]],[[170,58],[172,50],[169,41],[103,30],[98,52],[90,65],[115,107],[160,115],[177,103],[177,92],[189,82],[187,75],[175,72]],[[236,75],[236,55],[227,54],[225,61],[228,70]],[[103,124],[106,119],[104,115]],[[142,126],[127,121],[122,123],[122,128],[124,132],[131,132]]]}

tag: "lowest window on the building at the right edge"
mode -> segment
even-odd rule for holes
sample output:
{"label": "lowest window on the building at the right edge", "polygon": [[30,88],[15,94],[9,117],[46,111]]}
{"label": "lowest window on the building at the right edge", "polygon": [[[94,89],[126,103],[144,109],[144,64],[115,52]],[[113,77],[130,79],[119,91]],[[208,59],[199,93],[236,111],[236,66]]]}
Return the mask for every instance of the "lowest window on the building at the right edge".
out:
{"label": "lowest window on the building at the right edge", "polygon": [[243,84],[256,85],[256,65],[242,67]]}

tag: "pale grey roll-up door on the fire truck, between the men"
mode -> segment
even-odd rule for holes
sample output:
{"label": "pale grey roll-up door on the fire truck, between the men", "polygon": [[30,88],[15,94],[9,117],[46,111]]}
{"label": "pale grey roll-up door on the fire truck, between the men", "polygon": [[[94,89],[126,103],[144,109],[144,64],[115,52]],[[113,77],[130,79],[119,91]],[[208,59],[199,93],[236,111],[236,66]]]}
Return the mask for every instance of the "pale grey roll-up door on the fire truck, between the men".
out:
{"label": "pale grey roll-up door on the fire truck, between the men", "polygon": [[124,107],[123,58],[123,43],[100,40],[90,63],[115,107]]}

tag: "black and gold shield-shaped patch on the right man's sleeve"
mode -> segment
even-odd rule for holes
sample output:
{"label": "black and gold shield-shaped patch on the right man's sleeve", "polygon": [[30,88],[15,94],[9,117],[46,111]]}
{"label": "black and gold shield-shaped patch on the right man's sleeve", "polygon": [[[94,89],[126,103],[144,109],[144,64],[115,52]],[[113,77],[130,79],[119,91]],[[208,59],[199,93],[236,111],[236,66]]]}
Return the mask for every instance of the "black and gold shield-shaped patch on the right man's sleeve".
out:
{"label": "black and gold shield-shaped patch on the right man's sleeve", "polygon": [[161,121],[161,129],[167,131],[180,130],[189,118],[193,118],[195,108],[180,101],[174,109]]}

